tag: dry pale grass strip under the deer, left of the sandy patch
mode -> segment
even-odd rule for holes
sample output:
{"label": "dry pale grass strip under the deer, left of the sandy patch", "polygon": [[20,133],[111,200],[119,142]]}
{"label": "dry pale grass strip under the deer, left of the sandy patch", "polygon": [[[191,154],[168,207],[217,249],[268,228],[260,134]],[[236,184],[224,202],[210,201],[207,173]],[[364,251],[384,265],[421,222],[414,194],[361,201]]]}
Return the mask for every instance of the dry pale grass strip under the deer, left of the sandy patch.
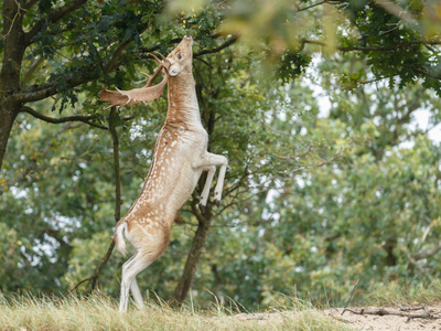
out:
{"label": "dry pale grass strip under the deer, left of the sandy patch", "polygon": [[172,309],[164,302],[146,310],[131,305],[119,313],[108,297],[1,297],[0,330],[352,330],[297,299],[284,308],[261,313],[235,313],[215,305],[195,310]]}

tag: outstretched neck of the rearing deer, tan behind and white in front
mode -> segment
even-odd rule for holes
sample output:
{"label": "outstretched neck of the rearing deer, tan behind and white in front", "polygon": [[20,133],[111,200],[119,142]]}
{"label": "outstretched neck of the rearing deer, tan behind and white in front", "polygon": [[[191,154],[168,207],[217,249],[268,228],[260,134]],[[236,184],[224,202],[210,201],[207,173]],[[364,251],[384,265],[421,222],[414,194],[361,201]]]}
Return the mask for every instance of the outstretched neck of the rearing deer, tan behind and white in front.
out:
{"label": "outstretched neck of the rearing deer, tan behind and white in front", "polygon": [[166,121],[185,126],[202,126],[196,88],[192,72],[182,72],[169,79]]}

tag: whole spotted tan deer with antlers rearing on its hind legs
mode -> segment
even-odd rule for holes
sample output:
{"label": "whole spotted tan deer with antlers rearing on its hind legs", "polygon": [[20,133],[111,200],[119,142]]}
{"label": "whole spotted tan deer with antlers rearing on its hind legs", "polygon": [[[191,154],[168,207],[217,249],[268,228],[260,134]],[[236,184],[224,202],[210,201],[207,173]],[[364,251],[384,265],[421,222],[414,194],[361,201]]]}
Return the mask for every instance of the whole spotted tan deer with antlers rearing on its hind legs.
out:
{"label": "whole spotted tan deer with antlers rearing on its hind legs", "polygon": [[[222,197],[228,161],[207,151],[208,135],[201,124],[192,73],[192,38],[186,35],[166,58],[160,61],[153,55],[159,67],[144,87],[101,92],[101,100],[111,106],[131,106],[159,98],[169,83],[169,110],[157,139],[150,172],[141,194],[115,228],[117,249],[127,253],[126,237],[136,250],[122,266],[119,303],[122,312],[127,311],[129,289],[138,307],[144,307],[136,276],[164,252],[172,224],[179,220],[178,212],[194,191],[201,173],[207,171],[200,201],[204,212],[215,166],[220,166],[214,194],[216,205]],[[150,86],[160,72],[164,74],[164,79]]]}

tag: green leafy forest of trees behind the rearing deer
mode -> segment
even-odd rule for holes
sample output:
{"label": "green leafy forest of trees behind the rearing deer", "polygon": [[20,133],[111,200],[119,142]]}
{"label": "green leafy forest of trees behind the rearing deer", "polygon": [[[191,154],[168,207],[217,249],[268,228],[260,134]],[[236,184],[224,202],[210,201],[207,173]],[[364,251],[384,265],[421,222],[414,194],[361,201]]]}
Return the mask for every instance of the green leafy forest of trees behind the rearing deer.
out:
{"label": "green leafy forest of trees behind the rearing deer", "polygon": [[141,190],[166,98],[109,110],[99,92],[142,86],[148,53],[185,34],[209,150],[229,167],[220,207],[201,214],[197,188],[138,277],[150,298],[257,309],[347,298],[357,279],[440,277],[437,1],[0,7],[2,293],[118,296],[112,227]]}

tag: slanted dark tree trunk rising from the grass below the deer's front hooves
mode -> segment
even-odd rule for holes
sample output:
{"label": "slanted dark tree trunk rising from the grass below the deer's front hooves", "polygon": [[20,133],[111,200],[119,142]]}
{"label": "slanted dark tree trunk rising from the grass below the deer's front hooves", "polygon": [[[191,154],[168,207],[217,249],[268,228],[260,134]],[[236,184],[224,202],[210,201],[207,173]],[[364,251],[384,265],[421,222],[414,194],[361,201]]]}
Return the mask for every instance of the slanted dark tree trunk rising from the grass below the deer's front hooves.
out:
{"label": "slanted dark tree trunk rising from the grass below the deer's front hooves", "polygon": [[[195,206],[193,206],[195,209]],[[209,223],[212,221],[212,212],[211,206],[207,205],[206,212],[204,215],[201,215],[198,212],[198,226],[196,234],[193,238],[192,248],[190,249],[189,256],[185,261],[184,271],[178,282],[178,286],[173,292],[171,305],[173,307],[181,307],[185,300],[186,295],[192,286],[194,274],[196,273],[197,265],[201,259],[201,255],[205,247],[205,243],[208,236]]]}

